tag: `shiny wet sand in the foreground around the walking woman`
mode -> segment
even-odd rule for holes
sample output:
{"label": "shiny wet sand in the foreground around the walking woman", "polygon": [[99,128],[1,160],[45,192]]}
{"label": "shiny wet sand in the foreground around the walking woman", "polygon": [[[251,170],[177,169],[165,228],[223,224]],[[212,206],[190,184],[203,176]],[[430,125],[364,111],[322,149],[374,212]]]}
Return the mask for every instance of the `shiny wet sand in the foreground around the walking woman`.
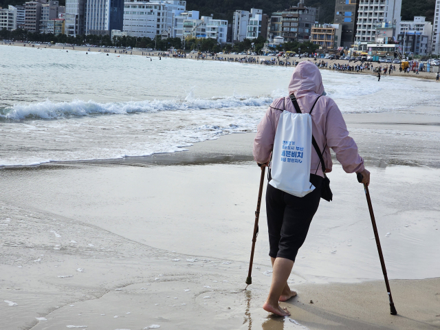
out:
{"label": "shiny wet sand in the foreground around the walking woman", "polygon": [[[439,134],[438,113],[344,116],[372,172],[399,316],[362,186],[338,164],[335,199],[322,201],[289,279],[291,318],[261,309],[271,281],[264,204],[254,283],[241,291],[259,184],[247,133],[184,153],[1,169],[0,329],[439,329],[440,166],[426,137]],[[405,149],[415,141],[417,155]]]}

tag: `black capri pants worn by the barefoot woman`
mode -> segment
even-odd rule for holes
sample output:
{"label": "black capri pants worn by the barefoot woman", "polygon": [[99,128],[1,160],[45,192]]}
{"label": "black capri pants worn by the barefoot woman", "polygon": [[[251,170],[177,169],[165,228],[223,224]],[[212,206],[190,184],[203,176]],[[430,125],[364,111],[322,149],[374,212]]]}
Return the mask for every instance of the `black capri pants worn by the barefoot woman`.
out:
{"label": "black capri pants worn by the barefoot woman", "polygon": [[272,258],[295,261],[321,198],[322,177],[311,174],[310,182],[316,189],[305,197],[290,195],[267,184],[267,228]]}

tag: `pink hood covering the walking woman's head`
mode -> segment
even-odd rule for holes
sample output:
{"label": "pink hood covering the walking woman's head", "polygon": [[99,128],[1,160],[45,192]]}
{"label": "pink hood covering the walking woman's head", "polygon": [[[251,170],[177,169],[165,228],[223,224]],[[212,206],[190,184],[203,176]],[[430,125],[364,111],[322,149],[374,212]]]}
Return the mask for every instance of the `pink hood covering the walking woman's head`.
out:
{"label": "pink hood covering the walking woman's head", "polygon": [[315,93],[322,95],[324,86],[322,85],[322,76],[318,67],[311,62],[303,61],[299,63],[292,75],[289,85],[289,95]]}

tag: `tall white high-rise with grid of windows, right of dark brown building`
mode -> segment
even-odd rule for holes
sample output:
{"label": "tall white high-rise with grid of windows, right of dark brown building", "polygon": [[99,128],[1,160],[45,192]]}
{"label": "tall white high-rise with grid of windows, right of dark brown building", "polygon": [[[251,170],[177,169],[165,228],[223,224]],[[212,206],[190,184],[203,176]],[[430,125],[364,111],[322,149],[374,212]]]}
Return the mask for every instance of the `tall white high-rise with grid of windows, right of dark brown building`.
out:
{"label": "tall white high-rise with grid of windows, right of dark brown building", "polygon": [[375,43],[376,25],[381,23],[393,25],[393,38],[396,38],[400,13],[401,0],[360,0],[355,42]]}

